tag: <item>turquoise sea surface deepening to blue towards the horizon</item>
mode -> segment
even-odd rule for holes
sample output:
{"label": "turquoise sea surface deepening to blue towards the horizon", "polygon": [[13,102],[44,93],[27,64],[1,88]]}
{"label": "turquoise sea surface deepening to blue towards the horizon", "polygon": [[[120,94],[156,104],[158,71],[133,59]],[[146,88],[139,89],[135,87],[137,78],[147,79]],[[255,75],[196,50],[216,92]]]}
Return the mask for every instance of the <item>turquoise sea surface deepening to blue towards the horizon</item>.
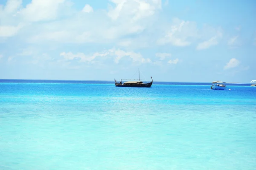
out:
{"label": "turquoise sea surface deepening to blue towards the horizon", "polygon": [[2,79],[0,170],[255,170],[256,87],[210,87]]}

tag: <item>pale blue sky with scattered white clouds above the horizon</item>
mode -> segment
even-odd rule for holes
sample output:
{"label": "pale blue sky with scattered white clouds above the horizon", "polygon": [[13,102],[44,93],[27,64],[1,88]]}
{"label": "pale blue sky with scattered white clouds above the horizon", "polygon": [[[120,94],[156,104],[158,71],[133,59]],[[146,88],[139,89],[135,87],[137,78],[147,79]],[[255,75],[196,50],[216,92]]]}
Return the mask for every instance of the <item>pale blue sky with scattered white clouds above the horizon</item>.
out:
{"label": "pale blue sky with scattered white clouds above the horizon", "polygon": [[0,79],[250,82],[255,0],[0,0]]}

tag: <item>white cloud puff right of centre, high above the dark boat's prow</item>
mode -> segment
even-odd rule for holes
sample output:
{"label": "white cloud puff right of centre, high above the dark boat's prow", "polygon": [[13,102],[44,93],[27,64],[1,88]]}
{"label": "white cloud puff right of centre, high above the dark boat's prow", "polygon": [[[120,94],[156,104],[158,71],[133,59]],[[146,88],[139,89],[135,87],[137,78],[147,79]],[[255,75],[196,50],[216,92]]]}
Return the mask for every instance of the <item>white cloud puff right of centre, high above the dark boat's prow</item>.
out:
{"label": "white cloud puff right of centre, high above the dark boat's prow", "polygon": [[187,46],[191,44],[188,39],[197,37],[197,34],[197,26],[195,22],[183,21],[175,18],[166,35],[157,40],[157,44],[164,45],[170,43],[175,46]]}

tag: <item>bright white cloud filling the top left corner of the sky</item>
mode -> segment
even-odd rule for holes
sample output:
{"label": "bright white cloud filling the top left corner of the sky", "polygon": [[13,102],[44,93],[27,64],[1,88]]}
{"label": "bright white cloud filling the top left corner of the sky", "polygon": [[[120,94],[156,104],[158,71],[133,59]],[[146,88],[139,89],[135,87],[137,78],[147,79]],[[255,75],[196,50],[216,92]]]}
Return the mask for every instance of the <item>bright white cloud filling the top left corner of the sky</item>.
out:
{"label": "bright white cloud filling the top left corner of the sky", "polygon": [[65,15],[66,11],[60,11],[62,4],[68,4],[65,2],[66,0],[32,0],[23,8],[22,0],[7,0],[5,6],[0,6],[0,37],[12,37],[23,27],[31,35],[35,24],[29,22],[49,21],[56,19],[61,13]]}

